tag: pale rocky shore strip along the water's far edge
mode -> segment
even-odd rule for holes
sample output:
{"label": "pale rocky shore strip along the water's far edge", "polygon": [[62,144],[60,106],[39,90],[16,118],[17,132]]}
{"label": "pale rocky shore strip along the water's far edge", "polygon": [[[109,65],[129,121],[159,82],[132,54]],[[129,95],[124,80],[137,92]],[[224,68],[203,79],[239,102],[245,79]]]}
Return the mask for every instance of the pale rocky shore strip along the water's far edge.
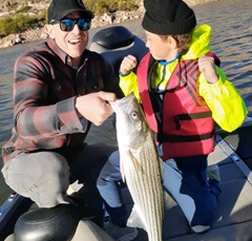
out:
{"label": "pale rocky shore strip along the water's far edge", "polygon": [[[207,2],[213,2],[218,0],[185,0],[188,5],[194,6],[197,4],[204,4]],[[39,6],[40,8],[48,7],[48,3],[45,3],[44,6]],[[92,28],[97,27],[104,27],[115,23],[122,23],[129,20],[139,19],[142,18],[144,14],[144,7],[141,3],[139,5],[139,8],[134,11],[117,11],[113,14],[103,14],[102,16],[96,16],[92,20]],[[1,14],[3,16],[3,14]],[[46,39],[48,36],[44,32],[43,27],[41,28],[35,28],[35,29],[29,29],[27,31],[24,31],[22,33],[16,33],[16,34],[10,34],[4,38],[0,39],[0,48],[7,48],[11,47],[16,44],[22,44],[27,43],[30,41],[40,40],[40,39]]]}

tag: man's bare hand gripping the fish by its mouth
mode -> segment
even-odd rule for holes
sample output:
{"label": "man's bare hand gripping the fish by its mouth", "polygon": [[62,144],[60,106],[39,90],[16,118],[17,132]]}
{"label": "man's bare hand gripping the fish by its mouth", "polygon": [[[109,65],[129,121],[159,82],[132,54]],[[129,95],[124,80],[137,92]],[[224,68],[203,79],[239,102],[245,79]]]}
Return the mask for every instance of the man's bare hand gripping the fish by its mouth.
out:
{"label": "man's bare hand gripping the fish by its mouth", "polygon": [[100,126],[113,113],[108,102],[115,100],[114,93],[100,91],[77,97],[75,108],[84,118]]}

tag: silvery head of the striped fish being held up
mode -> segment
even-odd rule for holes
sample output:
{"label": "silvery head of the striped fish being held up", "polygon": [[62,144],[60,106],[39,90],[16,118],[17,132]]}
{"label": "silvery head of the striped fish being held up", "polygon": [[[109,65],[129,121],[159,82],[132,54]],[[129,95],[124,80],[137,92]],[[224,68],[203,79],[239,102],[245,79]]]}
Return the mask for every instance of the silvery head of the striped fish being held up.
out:
{"label": "silvery head of the striped fish being held up", "polygon": [[146,140],[149,126],[134,94],[111,103],[116,113],[118,145],[138,149]]}

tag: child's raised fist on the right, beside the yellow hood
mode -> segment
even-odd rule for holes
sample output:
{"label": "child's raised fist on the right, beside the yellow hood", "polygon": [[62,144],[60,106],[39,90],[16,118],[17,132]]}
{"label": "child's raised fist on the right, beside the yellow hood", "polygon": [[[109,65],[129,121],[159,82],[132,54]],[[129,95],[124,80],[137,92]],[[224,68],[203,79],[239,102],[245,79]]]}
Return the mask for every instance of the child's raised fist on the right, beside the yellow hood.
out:
{"label": "child's raised fist on the right, beside the yellow hood", "polygon": [[208,83],[214,84],[218,81],[213,57],[203,55],[199,58],[198,64],[199,70],[204,74]]}

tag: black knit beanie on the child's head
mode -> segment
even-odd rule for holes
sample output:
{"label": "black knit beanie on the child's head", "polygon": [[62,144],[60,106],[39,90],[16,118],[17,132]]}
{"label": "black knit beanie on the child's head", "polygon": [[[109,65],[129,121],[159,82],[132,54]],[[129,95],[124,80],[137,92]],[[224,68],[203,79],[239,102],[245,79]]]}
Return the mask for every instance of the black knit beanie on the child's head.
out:
{"label": "black knit beanie on the child's head", "polygon": [[144,0],[142,26],[151,33],[177,35],[191,32],[196,26],[193,10],[182,0]]}

